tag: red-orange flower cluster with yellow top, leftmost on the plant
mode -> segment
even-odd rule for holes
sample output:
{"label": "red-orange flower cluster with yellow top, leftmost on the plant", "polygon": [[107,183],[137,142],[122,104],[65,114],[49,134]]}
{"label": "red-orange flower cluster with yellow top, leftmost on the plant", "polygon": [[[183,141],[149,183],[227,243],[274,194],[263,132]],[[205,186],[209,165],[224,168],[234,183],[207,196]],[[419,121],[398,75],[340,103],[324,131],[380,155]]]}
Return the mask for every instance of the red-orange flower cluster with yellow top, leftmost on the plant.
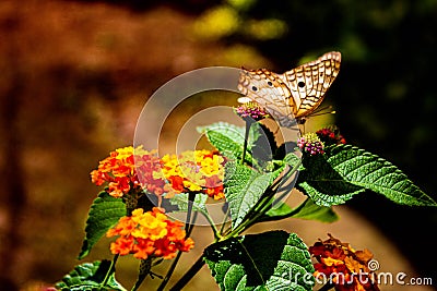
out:
{"label": "red-orange flower cluster with yellow top, leftmost on the plant", "polygon": [[162,195],[165,181],[153,178],[153,172],[160,170],[161,161],[155,151],[128,146],[111,151],[102,160],[97,170],[91,172],[91,180],[97,186],[107,182],[108,193],[114,197],[122,197],[130,191],[142,191],[142,186],[150,193]]}

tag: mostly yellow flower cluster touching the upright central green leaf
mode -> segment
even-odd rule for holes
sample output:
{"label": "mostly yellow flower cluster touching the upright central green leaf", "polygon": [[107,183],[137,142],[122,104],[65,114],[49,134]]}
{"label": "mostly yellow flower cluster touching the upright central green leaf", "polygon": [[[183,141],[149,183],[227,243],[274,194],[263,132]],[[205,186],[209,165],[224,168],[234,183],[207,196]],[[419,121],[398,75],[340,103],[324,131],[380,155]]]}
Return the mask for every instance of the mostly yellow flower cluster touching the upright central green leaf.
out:
{"label": "mostly yellow flower cluster touching the upright central green leaf", "polygon": [[162,172],[154,178],[166,179],[172,191],[170,197],[178,193],[200,192],[221,199],[224,197],[224,158],[211,150],[188,150],[181,155],[165,155],[162,158]]}

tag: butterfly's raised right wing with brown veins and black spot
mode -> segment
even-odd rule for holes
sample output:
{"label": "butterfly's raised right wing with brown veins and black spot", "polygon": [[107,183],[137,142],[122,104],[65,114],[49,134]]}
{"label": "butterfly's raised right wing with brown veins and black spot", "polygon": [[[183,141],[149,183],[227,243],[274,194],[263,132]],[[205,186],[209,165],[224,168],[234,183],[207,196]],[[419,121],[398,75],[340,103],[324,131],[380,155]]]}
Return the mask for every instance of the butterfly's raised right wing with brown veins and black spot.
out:
{"label": "butterfly's raised right wing with brown veins and black spot", "polygon": [[315,61],[277,75],[291,92],[293,98],[290,98],[290,106],[297,119],[307,117],[321,104],[339,74],[340,63],[341,53],[331,51]]}

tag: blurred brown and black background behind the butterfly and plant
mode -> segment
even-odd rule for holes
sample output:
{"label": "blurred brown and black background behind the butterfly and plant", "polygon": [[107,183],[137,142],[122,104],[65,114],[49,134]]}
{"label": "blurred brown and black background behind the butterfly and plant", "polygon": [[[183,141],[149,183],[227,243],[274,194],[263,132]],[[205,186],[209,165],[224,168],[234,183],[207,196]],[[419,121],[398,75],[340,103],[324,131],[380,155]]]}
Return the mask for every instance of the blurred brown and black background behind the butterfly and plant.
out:
{"label": "blurred brown and black background behind the butterfly and plant", "polygon": [[[349,143],[392,161],[436,199],[436,0],[1,1],[0,289],[37,290],[79,263],[87,208],[98,192],[88,172],[110,150],[132,144],[156,88],[198,68],[283,72],[341,51],[341,73],[326,100],[338,112],[334,122]],[[188,102],[166,135],[211,104],[233,101]],[[373,193],[335,209],[341,221],[333,225],[293,220],[252,231],[296,231],[307,244],[332,232],[370,248],[383,271],[437,282],[435,209]],[[201,228],[193,235],[198,247],[182,266],[212,240]],[[110,258],[107,243],[85,260]],[[120,260],[127,287],[137,266]],[[187,290],[217,290],[208,274],[202,269]],[[156,283],[149,278],[142,290]]]}

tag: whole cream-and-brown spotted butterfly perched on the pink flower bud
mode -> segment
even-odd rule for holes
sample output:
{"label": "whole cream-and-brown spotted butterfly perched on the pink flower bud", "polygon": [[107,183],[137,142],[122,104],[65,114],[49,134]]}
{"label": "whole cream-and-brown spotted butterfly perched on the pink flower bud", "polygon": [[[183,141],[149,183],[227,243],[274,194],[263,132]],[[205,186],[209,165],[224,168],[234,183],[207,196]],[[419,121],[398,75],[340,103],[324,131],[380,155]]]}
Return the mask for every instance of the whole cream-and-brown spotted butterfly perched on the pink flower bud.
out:
{"label": "whole cream-and-brown spotted butterfly perched on the pink flower bud", "polygon": [[241,69],[238,90],[264,107],[281,126],[304,123],[324,98],[340,71],[341,53],[327,52],[283,74]]}

